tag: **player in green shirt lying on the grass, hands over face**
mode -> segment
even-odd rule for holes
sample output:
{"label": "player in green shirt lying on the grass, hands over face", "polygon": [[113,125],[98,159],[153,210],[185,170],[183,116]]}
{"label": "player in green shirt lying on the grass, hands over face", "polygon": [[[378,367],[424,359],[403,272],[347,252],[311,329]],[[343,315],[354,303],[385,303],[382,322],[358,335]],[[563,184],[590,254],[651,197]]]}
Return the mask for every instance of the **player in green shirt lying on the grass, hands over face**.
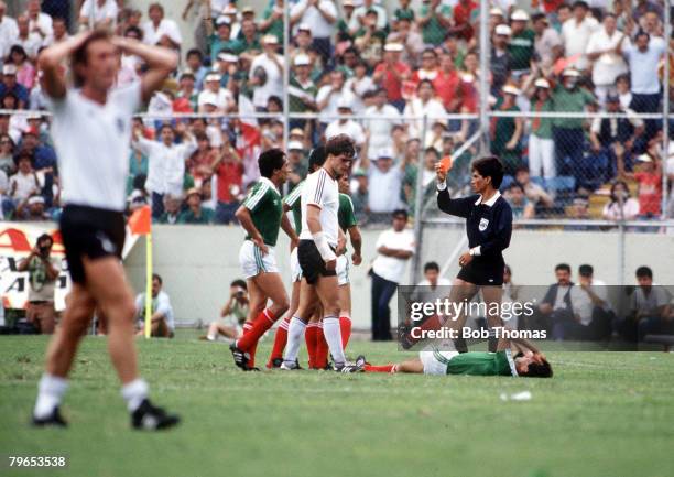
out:
{"label": "player in green shirt lying on the grass, hands over face", "polygon": [[[515,349],[513,358],[510,348],[497,353],[469,351],[458,353],[455,349],[420,351],[418,358],[399,364],[372,366],[361,364],[365,372],[415,372],[424,375],[470,375],[470,376],[520,376],[526,378],[552,378],[553,371],[545,356],[531,343],[511,339]],[[452,344],[448,347],[453,347]],[[365,360],[365,358],[359,357]]]}

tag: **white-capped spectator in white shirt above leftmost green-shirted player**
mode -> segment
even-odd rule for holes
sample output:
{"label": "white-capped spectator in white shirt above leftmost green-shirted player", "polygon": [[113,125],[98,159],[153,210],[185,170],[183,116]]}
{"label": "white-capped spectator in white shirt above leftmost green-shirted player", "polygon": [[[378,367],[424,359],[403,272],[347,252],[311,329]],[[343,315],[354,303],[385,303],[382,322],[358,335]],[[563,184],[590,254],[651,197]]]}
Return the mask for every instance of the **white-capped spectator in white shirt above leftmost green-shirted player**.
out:
{"label": "white-capped spectator in white shirt above leftmost green-shirted player", "polygon": [[264,110],[270,96],[283,97],[283,56],[276,53],[279,39],[275,35],[264,35],[261,43],[262,53],[250,65],[248,85],[254,87],[253,106]]}

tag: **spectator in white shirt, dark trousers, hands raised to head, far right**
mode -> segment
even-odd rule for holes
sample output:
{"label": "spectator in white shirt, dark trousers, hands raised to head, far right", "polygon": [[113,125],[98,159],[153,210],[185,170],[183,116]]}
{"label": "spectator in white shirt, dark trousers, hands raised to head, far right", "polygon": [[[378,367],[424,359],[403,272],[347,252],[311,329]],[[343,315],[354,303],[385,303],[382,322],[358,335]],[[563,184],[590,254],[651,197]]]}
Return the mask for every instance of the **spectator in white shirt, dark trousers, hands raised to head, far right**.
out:
{"label": "spectator in white shirt, dark trousers, hands raised to head, far right", "polygon": [[[657,65],[666,52],[663,39],[651,36],[645,32],[637,33],[634,44],[618,43],[618,52],[622,52],[630,66],[632,83],[631,108],[637,112],[657,112],[660,107],[660,76]],[[646,120],[645,140],[657,132],[657,121]]]}

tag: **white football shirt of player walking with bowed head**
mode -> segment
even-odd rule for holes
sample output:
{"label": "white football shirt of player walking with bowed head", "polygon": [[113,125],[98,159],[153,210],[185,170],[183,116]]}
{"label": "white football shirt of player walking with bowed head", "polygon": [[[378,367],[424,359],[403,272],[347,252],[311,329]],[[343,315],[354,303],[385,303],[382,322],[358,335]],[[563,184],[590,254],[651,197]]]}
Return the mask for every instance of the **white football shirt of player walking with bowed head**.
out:
{"label": "white football shirt of player walking with bowed head", "polygon": [[314,240],[306,224],[306,207],[312,204],[320,208],[320,229],[331,247],[337,247],[339,221],[337,210],[339,209],[339,188],[337,181],[328,172],[320,167],[309,174],[302,187],[302,232],[301,240]]}

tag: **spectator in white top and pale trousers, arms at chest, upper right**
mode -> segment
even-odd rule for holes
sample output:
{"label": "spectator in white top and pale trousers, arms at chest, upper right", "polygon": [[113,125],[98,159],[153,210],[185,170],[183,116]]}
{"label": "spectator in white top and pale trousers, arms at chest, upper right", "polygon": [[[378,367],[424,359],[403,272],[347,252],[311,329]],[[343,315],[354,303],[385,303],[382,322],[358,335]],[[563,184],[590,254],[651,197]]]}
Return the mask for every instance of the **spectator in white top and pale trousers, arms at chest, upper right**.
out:
{"label": "spectator in white top and pale trousers, arms at chest, upper right", "polygon": [[593,62],[593,83],[595,95],[604,106],[607,95],[616,93],[616,78],[627,72],[624,59],[616,52],[618,44],[626,35],[617,30],[616,17],[608,13],[604,18],[604,26],[589,39],[586,53]]}

